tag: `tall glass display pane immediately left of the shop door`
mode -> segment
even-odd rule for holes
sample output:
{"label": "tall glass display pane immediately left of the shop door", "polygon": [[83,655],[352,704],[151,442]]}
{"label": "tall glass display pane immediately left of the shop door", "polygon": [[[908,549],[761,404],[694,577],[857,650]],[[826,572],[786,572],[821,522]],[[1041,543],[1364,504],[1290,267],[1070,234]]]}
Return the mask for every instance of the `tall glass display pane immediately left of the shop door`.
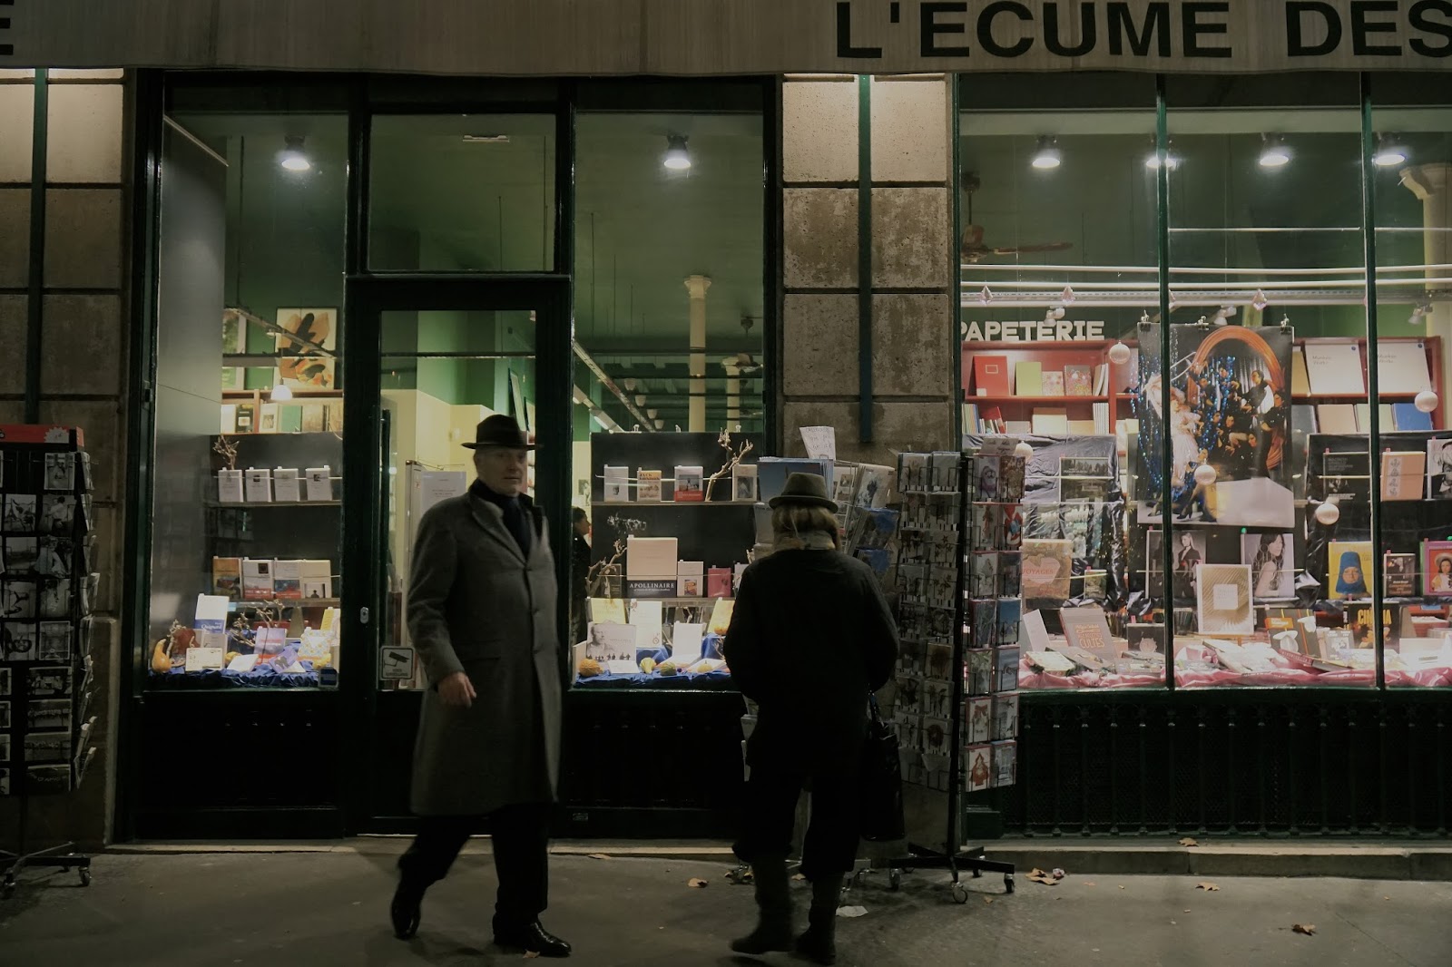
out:
{"label": "tall glass display pane immediately left of the shop door", "polygon": [[147,687],[335,687],[347,119],[174,121]]}

